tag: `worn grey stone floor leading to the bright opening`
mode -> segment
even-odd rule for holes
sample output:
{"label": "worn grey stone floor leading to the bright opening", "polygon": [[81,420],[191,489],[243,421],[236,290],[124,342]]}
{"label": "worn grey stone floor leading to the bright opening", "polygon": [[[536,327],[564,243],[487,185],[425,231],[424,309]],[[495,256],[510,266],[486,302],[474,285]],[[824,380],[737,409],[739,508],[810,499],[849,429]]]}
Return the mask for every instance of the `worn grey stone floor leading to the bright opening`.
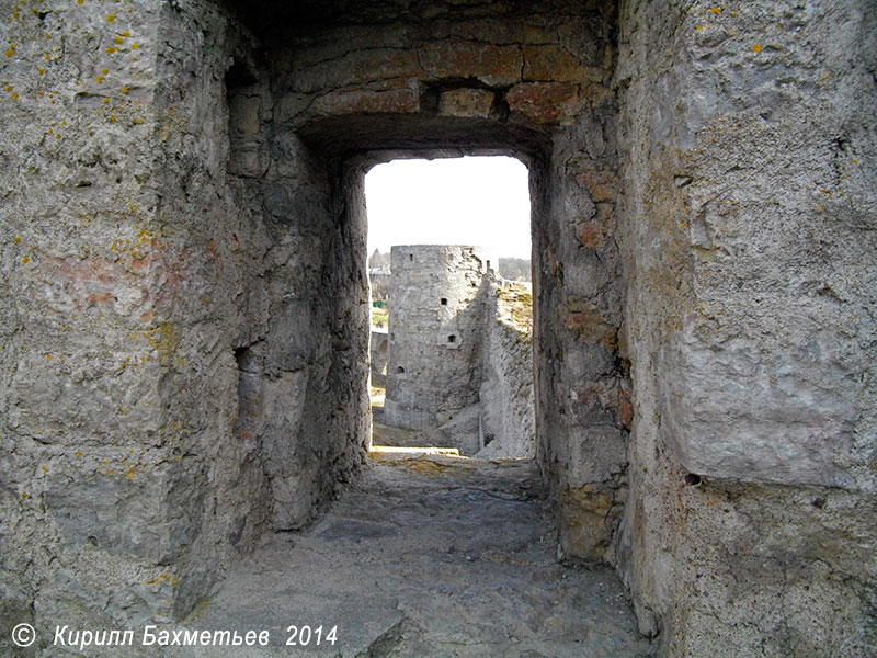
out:
{"label": "worn grey stone floor leading to the bright opening", "polygon": [[[529,462],[377,454],[316,525],[274,537],[184,625],[271,629],[274,646],[235,656],[648,656],[614,574],[556,561],[543,494]],[[284,646],[291,624],[338,639]]]}

